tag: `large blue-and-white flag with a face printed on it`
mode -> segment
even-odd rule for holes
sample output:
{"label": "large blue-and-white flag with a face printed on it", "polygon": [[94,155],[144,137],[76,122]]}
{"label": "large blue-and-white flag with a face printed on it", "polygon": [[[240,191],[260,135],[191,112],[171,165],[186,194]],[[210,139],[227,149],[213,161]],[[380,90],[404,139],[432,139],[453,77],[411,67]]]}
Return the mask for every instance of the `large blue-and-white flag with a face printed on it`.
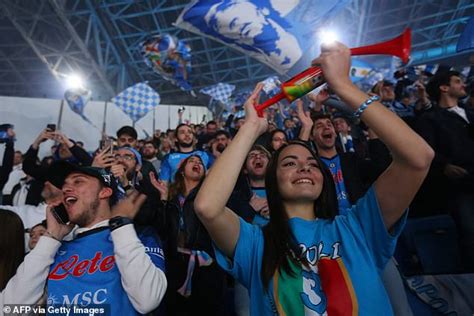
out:
{"label": "large blue-and-white flag with a face printed on it", "polygon": [[349,0],[194,0],[176,26],[257,58],[279,73],[315,43],[315,30]]}

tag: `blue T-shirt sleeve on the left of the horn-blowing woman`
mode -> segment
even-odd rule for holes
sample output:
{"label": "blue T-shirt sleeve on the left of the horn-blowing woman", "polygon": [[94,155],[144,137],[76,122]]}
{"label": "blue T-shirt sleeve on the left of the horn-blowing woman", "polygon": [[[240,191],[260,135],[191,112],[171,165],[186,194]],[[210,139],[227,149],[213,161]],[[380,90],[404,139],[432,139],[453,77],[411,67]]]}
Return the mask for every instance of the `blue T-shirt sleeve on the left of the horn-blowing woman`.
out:
{"label": "blue T-shirt sleeve on the left of the horn-blowing woman", "polygon": [[247,223],[242,218],[240,222],[240,235],[235,247],[234,259],[226,257],[214,245],[217,263],[235,279],[249,288],[252,277],[259,274],[263,254],[262,230]]}

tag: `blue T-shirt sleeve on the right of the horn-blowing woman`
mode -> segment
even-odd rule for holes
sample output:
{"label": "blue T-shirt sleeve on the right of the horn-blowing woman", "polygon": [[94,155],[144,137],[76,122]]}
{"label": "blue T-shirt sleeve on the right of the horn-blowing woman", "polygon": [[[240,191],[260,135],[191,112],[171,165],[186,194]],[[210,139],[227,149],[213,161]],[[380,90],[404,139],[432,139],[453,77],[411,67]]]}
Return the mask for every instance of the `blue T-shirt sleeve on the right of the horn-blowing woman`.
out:
{"label": "blue T-shirt sleeve on the right of the horn-blowing woman", "polygon": [[385,228],[373,186],[357,201],[347,215],[350,222],[355,222],[351,226],[360,227],[379,272],[385,268],[387,261],[393,256],[407,215],[408,212],[405,211],[389,233]]}

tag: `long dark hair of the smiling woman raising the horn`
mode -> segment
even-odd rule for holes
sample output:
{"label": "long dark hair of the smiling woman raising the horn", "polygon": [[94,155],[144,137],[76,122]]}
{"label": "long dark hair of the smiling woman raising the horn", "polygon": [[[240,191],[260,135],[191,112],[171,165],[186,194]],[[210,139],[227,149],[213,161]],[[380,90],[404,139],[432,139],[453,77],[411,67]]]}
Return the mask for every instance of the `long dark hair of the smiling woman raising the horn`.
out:
{"label": "long dark hair of the smiling woman raising the horn", "polygon": [[[323,187],[321,194],[314,201],[314,215],[317,218],[333,219],[337,214],[337,199],[334,181],[331,172],[326,168],[318,155],[304,142],[292,141],[283,145],[273,154],[267,167],[265,175],[265,187],[267,192],[268,207],[270,209],[270,222],[263,228],[264,249],[261,278],[264,287],[267,288],[275,271],[283,269],[287,274],[293,275],[290,262],[297,261],[293,254],[301,257],[301,250],[296,244],[293,233],[288,224],[288,214],[283,207],[283,200],[277,182],[278,158],[284,148],[288,146],[303,146],[318,162],[323,175]],[[300,261],[308,265],[305,257]]]}

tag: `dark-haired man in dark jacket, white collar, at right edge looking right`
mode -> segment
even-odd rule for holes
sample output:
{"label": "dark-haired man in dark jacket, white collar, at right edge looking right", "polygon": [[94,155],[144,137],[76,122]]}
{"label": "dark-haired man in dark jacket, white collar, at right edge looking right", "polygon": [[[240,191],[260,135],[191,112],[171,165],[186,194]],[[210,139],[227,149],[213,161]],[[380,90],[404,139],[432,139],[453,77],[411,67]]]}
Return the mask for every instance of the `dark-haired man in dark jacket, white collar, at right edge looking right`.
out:
{"label": "dark-haired man in dark jacket, white collar, at right edge looking right", "polygon": [[434,149],[435,158],[420,199],[430,212],[426,215],[450,211],[459,232],[464,267],[473,271],[474,110],[459,103],[467,96],[459,72],[438,72],[426,90],[437,106],[420,118],[418,131]]}

